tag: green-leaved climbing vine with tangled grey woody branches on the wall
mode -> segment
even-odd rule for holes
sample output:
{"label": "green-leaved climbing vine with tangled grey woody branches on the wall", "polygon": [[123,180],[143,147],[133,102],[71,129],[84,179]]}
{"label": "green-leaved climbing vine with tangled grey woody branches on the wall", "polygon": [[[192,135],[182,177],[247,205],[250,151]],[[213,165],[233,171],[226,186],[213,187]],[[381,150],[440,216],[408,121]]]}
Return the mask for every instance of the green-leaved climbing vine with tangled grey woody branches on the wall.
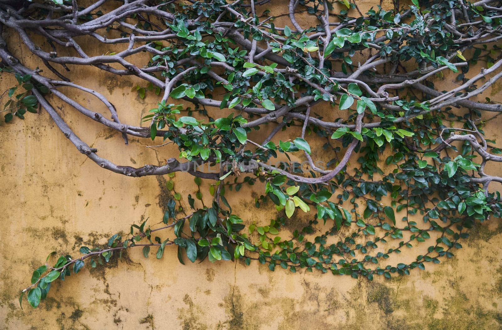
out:
{"label": "green-leaved climbing vine with tangled grey woody branches on the wall", "polygon": [[[0,0],[2,71],[19,83],[3,94],[5,121],[43,108],[100,167],[132,177],[188,172],[197,192],[174,193],[161,227],[133,224],[106,246],[81,247],[80,256],[62,255],[55,264],[49,255],[20,303],[26,294],[37,307],[53,281],[134,247],[157,259],[177,248],[181,263],[240,259],[271,271],[408,275],[452,257],[468,229],[500,217],[500,194],[490,183],[502,177],[484,169],[502,156],[483,127],[502,105],[479,96],[502,76],[502,2],[412,0],[367,13],[347,0],[79,5]],[[311,26],[304,26],[307,16]],[[19,36],[44,68],[14,56],[8,35]],[[109,52],[90,55],[84,36]],[[123,109],[65,76],[82,65],[140,78],[139,97],[158,101],[141,118],[145,125],[122,123]],[[446,75],[456,83],[445,91],[434,82]],[[109,115],[60,87],[91,94]],[[176,145],[179,153],[166,164],[116,165],[74,133],[54,102],[120,132],[126,144],[134,136],[158,149]],[[209,191],[201,179],[211,180]],[[232,211],[225,195],[244,185],[261,191],[247,197],[256,207],[275,205],[269,225]],[[300,217],[308,219],[303,229],[283,230]],[[386,261],[404,249],[417,257]]]}

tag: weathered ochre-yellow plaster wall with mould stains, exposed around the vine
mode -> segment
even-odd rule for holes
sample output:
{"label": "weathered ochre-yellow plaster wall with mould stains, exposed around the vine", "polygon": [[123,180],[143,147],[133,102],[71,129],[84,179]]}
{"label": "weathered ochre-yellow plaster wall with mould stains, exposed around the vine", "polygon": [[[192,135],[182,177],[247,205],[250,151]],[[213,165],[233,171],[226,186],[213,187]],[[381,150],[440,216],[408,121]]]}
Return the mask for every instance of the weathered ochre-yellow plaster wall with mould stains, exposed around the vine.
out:
{"label": "weathered ochre-yellow plaster wall with mould stains, exposed around the vine", "polygon": [[[370,1],[361,3],[361,11],[372,5]],[[277,4],[283,6],[284,2]],[[35,63],[29,52],[16,46],[16,36],[10,43],[26,63]],[[139,124],[157,101],[153,94],[143,100],[131,92],[134,79],[79,67],[72,67],[71,78],[109,97],[124,122]],[[445,86],[456,84],[453,77],[436,80]],[[11,76],[0,76],[0,92],[13,83]],[[502,100],[501,87],[497,83],[486,96]],[[89,95],[76,93],[73,97],[102,109]],[[136,138],[124,146],[119,134],[59,105],[57,110],[82,140],[115,163],[161,164],[172,152],[176,154],[172,147],[146,148],[148,141]],[[493,120],[485,128],[497,142],[500,124],[501,119]],[[128,178],[99,168],[77,152],[43,110],[27,114],[25,121],[0,123],[0,141],[0,328],[502,327],[499,219],[471,230],[471,237],[461,242],[464,248],[455,251],[455,257],[427,265],[425,271],[414,270],[407,277],[376,277],[368,282],[315,271],[271,272],[257,262],[245,266],[206,260],[183,266],[175,249],[167,249],[162,260],[153,256],[147,260],[141,250],[133,249],[123,255],[122,262],[85,267],[77,276],[54,282],[39,308],[33,310],[25,301],[21,309],[19,292],[48,253],[76,256],[81,245],[103,244],[132,223],[149,217],[156,224],[172,192],[165,185],[167,176]],[[176,174],[173,180],[175,190],[183,196],[196,192],[191,176]],[[208,184],[203,182],[206,188]],[[255,186],[255,191],[243,187],[230,199],[246,223],[265,224],[276,214],[273,207],[257,209],[248,201],[250,194],[262,190],[261,186]],[[287,230],[300,228],[305,219],[292,218]],[[416,255],[413,249],[404,250],[400,258],[412,260]]]}

